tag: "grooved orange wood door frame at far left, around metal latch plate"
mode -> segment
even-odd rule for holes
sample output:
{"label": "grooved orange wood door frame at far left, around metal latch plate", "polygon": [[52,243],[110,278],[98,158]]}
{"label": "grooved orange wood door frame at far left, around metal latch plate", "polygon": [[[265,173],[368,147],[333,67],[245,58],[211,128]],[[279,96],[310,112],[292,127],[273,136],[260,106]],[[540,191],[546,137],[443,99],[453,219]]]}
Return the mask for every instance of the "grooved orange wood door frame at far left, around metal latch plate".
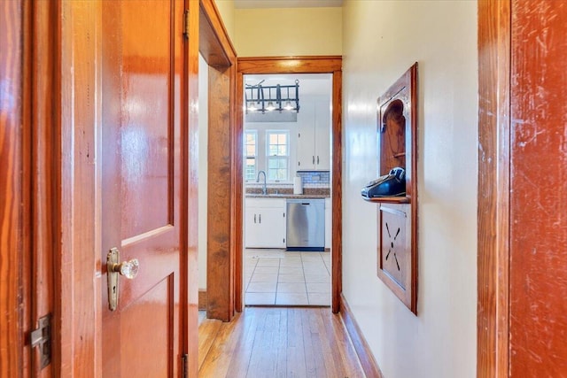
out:
{"label": "grooved orange wood door frame at far left, around metal latch plate", "polygon": [[[57,204],[58,158],[59,23],[56,2],[6,2],[2,24],[5,46],[12,51],[3,61],[12,106],[3,109],[5,144],[2,161],[6,174],[0,187],[6,228],[0,232],[2,269],[0,307],[7,321],[0,321],[0,333],[8,355],[0,375],[58,375],[60,366],[60,314],[55,306],[55,259],[60,219]],[[13,66],[11,66],[11,64]],[[4,219],[3,219],[4,220]],[[4,275],[5,273],[5,275]],[[51,315],[51,364],[40,366],[38,349],[29,346],[30,332],[39,318]]]}

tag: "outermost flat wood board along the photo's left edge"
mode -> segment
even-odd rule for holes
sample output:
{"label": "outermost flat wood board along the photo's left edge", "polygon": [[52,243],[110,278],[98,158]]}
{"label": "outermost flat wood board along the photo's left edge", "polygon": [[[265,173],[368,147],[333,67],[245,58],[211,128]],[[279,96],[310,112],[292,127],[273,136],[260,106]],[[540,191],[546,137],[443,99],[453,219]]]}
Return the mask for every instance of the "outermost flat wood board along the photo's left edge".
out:
{"label": "outermost flat wood board along the photo's left edge", "polygon": [[[0,72],[7,84],[0,95],[0,376],[28,376],[35,372],[35,355],[26,337],[33,327],[31,263],[33,259],[31,173],[33,162],[32,18],[29,2],[0,5],[0,42],[5,51]],[[43,42],[40,41],[40,42]]]}

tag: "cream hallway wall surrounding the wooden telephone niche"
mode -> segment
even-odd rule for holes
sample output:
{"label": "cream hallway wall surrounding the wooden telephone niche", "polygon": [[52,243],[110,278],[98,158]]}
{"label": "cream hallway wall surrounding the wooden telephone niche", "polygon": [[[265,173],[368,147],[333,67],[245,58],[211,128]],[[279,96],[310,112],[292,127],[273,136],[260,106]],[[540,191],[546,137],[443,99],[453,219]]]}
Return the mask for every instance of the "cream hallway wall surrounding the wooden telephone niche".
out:
{"label": "cream hallway wall surrounding the wooden telephone niche", "polygon": [[[346,0],[343,290],[387,378],[476,376],[477,2]],[[377,278],[376,101],[418,78],[416,317]]]}

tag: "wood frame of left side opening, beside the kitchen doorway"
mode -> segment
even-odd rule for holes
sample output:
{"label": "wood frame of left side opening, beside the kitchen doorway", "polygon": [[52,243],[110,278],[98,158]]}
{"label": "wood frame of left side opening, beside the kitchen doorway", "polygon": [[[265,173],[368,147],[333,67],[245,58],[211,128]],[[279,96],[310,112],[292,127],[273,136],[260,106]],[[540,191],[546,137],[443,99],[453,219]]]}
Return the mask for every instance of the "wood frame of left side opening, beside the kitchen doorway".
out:
{"label": "wood frame of left side opening, beside the kitchen doorway", "polygon": [[199,51],[208,70],[206,317],[229,321],[235,309],[234,256],[242,245],[242,134],[235,127],[237,52],[213,0],[200,0]]}

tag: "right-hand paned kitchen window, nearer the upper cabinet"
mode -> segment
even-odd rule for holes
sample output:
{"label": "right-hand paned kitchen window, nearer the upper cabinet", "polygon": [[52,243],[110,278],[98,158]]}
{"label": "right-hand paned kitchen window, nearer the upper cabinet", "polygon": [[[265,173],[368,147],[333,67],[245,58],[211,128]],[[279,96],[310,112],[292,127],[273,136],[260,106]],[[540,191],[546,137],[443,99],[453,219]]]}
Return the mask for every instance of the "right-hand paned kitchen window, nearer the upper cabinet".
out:
{"label": "right-hand paned kitchen window, nearer the upper cabinet", "polygon": [[266,133],[268,180],[287,181],[290,162],[289,131],[268,131]]}

